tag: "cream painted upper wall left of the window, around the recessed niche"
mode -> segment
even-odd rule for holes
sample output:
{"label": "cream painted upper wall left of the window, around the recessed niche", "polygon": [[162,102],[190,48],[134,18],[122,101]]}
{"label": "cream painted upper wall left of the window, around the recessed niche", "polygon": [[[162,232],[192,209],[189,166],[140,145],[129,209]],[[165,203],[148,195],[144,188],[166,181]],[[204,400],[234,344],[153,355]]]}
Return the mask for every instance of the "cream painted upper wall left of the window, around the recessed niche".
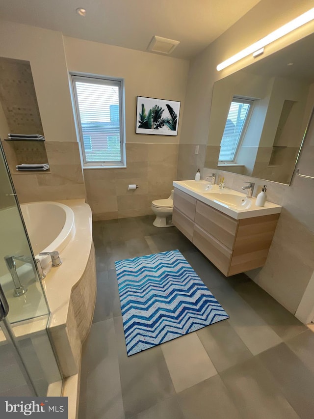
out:
{"label": "cream painted upper wall left of the window, around the recessed niche", "polygon": [[0,56],[30,61],[47,141],[76,141],[61,32],[0,21]]}

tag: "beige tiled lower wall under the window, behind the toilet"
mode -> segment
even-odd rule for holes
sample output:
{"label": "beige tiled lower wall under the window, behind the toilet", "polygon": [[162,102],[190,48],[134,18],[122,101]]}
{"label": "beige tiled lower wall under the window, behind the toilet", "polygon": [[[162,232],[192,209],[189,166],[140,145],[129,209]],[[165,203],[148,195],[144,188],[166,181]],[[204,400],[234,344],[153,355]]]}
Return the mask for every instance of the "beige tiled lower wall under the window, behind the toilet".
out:
{"label": "beige tiled lower wall under the window, behind the toilet", "polygon": [[[93,220],[152,214],[152,200],[167,198],[177,177],[178,144],[127,143],[127,168],[84,170]],[[139,186],[128,191],[129,184]]]}

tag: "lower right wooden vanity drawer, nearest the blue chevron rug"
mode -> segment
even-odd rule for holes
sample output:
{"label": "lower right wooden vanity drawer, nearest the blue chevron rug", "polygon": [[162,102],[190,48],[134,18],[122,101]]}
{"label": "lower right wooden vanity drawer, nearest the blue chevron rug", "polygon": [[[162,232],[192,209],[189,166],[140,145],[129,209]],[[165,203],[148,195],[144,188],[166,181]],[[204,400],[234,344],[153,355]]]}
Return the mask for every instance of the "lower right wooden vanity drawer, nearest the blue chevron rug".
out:
{"label": "lower right wooden vanity drawer, nearest the blue chevron rug", "polygon": [[196,224],[194,225],[193,245],[224,275],[228,275],[232,251]]}

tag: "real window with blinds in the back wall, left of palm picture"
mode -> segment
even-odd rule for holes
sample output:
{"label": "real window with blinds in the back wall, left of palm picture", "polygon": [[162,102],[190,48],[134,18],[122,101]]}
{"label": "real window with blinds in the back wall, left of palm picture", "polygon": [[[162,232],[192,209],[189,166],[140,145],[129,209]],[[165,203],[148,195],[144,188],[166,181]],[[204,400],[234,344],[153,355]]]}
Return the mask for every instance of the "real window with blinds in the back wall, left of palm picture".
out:
{"label": "real window with blinds in the back wall, left of palm picture", "polygon": [[123,81],[72,75],[79,137],[88,167],[124,167]]}

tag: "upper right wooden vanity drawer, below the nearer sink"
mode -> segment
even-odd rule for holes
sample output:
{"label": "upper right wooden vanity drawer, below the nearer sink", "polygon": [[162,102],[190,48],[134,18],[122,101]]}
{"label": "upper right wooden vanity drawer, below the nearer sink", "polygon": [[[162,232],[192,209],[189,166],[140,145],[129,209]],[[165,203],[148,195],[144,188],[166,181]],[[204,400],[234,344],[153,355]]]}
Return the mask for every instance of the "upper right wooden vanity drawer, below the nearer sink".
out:
{"label": "upper right wooden vanity drawer, below the nearer sink", "polygon": [[238,220],[211,208],[201,201],[197,201],[195,223],[227,248],[234,248]]}

